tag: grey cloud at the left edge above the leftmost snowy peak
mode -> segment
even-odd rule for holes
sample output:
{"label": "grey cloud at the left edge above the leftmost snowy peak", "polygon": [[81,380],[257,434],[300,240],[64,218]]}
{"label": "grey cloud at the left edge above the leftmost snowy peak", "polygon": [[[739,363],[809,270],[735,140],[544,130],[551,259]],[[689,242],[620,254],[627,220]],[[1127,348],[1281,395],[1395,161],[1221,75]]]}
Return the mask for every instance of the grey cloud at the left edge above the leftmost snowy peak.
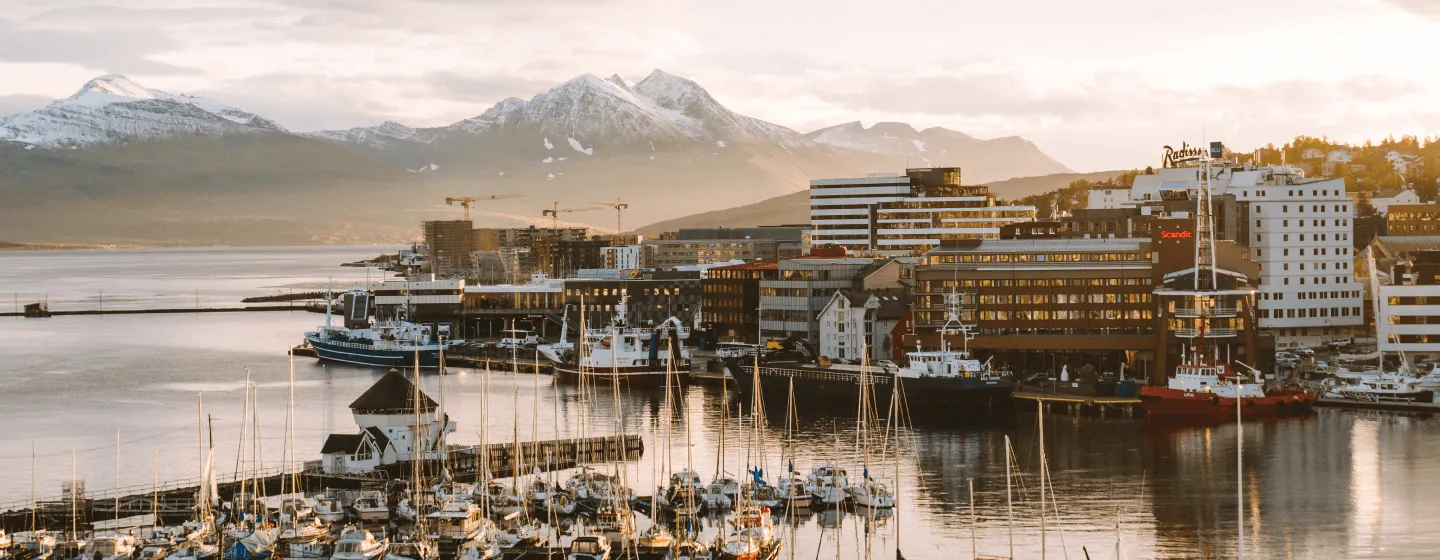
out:
{"label": "grey cloud at the left edge above the leftmost snowy peak", "polygon": [[117,73],[192,72],[150,58],[179,46],[168,35],[156,30],[35,29],[0,19],[0,60],[6,62],[62,62]]}

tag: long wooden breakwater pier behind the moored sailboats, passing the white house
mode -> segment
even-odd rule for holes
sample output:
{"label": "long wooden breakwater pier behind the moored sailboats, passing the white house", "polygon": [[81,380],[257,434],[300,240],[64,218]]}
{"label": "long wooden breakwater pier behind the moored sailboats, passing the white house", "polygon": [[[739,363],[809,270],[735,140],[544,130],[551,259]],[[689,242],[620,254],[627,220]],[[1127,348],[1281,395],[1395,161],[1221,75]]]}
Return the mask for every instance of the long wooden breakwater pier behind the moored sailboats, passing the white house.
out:
{"label": "long wooden breakwater pier behind the moored sailboats, passing the white house", "polygon": [[[580,465],[603,465],[621,461],[638,461],[645,452],[641,436],[602,436],[583,439],[552,439],[539,442],[521,442],[520,453],[516,453],[514,443],[492,443],[480,446],[451,446],[449,456],[444,465],[439,461],[425,461],[422,469],[428,477],[438,477],[444,466],[458,482],[475,482],[481,478],[485,462],[490,465],[490,478],[508,478],[514,475],[517,466],[528,474],[533,469],[560,471]],[[482,461],[487,458],[488,461]],[[517,461],[523,458],[523,461]],[[382,489],[390,481],[405,481],[412,471],[410,462],[399,462],[382,466],[376,471],[364,472],[323,472],[320,461],[305,464],[298,472],[284,472],[281,469],[266,469],[256,475],[235,474],[222,475],[217,484],[222,500],[233,500],[240,485],[258,484],[261,495],[278,495],[281,491],[294,492],[289,479],[298,478],[300,489],[304,492],[320,492],[328,489]],[[128,488],[89,492],[78,497],[75,510],[79,512],[81,528],[88,528],[95,521],[109,521],[117,518],[115,494],[120,494],[118,517],[147,515],[157,512],[166,523],[184,521],[193,517],[194,501],[199,494],[199,479],[170,481],[158,487],[137,485]],[[39,527],[69,527],[71,498],[43,497],[35,501],[32,511],[29,500],[0,504],[0,528],[14,533],[30,527],[32,515]]]}

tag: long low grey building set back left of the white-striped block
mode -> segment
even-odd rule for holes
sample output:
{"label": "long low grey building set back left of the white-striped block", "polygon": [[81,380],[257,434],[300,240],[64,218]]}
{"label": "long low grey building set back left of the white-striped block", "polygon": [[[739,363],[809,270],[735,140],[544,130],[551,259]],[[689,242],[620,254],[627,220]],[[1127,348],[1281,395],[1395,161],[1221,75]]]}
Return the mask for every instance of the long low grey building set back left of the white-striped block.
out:
{"label": "long low grey building set back left of the white-striped block", "polygon": [[806,226],[693,227],[647,240],[652,266],[675,268],[726,261],[789,259],[809,249]]}

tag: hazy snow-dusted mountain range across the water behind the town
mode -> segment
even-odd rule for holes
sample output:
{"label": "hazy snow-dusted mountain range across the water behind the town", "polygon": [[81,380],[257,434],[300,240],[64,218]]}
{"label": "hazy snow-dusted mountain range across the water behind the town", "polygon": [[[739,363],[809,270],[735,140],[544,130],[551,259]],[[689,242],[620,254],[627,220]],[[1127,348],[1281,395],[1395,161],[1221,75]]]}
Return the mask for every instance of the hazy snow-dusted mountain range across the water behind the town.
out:
{"label": "hazy snow-dusted mountain range across the water behind the town", "polygon": [[841,124],[801,134],[730,111],[694,81],[586,73],[445,127],[399,122],[294,132],[204,98],[121,75],[0,117],[0,239],[242,245],[403,242],[458,217],[446,196],[526,194],[478,226],[613,229],[593,200],[629,203],[626,229],[759,203],[812,177],[959,166],[966,183],[1068,171],[1018,137]]}

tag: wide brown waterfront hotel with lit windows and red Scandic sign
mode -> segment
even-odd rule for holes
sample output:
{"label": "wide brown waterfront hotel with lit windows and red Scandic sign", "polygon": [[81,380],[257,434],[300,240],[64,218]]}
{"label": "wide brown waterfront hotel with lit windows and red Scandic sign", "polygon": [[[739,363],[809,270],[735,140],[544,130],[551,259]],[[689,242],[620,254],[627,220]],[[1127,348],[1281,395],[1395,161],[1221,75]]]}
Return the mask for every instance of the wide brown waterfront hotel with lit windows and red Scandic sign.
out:
{"label": "wide brown waterfront hotel with lit windows and red Scandic sign", "polygon": [[[916,271],[916,333],[903,344],[939,347],[946,299],[955,298],[959,321],[975,327],[969,347],[1017,371],[1054,373],[1068,364],[1071,371],[1089,366],[1117,373],[1126,364],[1139,377],[1174,366],[1164,361],[1166,341],[1182,327],[1164,320],[1155,294],[1168,274],[1194,266],[1195,222],[1155,219],[1149,226],[1149,238],[1080,238],[1057,227],[1051,238],[932,249]],[[1221,268],[1259,275],[1244,248],[1218,242],[1215,249]],[[963,341],[952,331],[949,344]]]}

